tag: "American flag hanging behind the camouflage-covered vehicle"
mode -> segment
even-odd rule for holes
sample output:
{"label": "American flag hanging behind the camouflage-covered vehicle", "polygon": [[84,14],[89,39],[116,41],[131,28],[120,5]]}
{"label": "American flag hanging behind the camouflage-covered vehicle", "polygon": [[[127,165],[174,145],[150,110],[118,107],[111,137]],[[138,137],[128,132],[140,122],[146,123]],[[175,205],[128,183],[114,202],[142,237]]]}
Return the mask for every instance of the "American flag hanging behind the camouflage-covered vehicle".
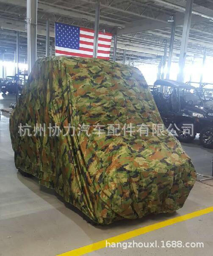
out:
{"label": "American flag hanging behind the camouflage-covered vehicle", "polygon": [[[109,59],[112,34],[98,33],[98,59]],[[55,23],[55,55],[92,57],[94,30]]]}

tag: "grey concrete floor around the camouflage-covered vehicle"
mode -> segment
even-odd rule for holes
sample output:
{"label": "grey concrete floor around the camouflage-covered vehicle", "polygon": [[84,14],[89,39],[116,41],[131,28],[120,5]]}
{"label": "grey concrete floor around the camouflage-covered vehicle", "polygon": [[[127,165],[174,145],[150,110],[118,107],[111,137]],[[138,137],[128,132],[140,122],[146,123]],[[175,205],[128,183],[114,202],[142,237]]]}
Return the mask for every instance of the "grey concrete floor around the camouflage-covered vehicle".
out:
{"label": "grey concrete floor around the camouflage-covered vehicle", "polygon": [[[0,108],[14,103],[14,96],[0,94]],[[108,239],[168,218],[213,206],[213,187],[197,182],[184,207],[176,214],[160,214],[139,220],[125,220],[107,227],[92,226],[64,206],[54,193],[40,188],[36,179],[22,177],[14,166],[14,152],[8,129],[9,115],[0,121],[0,256],[55,256]],[[211,174],[213,150],[199,141],[183,145],[196,171]],[[195,150],[196,149],[196,150]],[[204,248],[105,248],[89,253],[102,255],[213,255],[213,214],[206,214],[166,228],[137,236],[128,241],[154,242],[181,240],[203,242]]]}

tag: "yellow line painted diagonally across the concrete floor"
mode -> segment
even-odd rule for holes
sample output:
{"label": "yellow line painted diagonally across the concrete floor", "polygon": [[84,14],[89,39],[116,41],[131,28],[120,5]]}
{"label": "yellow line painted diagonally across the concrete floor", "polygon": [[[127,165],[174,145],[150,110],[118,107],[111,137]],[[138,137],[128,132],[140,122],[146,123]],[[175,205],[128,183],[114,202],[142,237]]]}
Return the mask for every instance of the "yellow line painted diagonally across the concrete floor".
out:
{"label": "yellow line painted diagonally across the concrete floor", "polygon": [[210,212],[213,212],[213,206],[202,209],[202,210],[199,210],[199,211],[194,211],[190,214],[185,214],[185,215],[180,216],[180,217],[167,219],[167,220],[164,220],[164,221],[161,221],[161,222],[158,222],[158,223],[155,223],[155,224],[143,227],[143,228],[138,228],[138,229],[133,230],[133,231],[128,231],[127,233],[123,233],[123,234],[120,234],[118,236],[113,236],[111,238],[96,242],[94,244],[86,245],[86,246],[80,247],[78,249],[71,250],[69,252],[59,254],[58,256],[80,256],[80,255],[84,255],[86,253],[91,253],[95,250],[100,250],[102,248],[105,248],[106,247],[106,240],[107,240],[108,243],[122,242],[124,240],[131,239],[131,238],[136,237],[136,236],[140,236],[144,233],[148,233],[150,231],[154,231],[154,230],[157,230],[159,228],[164,228],[164,227],[167,227],[169,225],[173,225],[175,223],[182,222],[182,221],[185,221],[185,220],[188,220],[188,219],[199,217],[201,215],[208,214]]}

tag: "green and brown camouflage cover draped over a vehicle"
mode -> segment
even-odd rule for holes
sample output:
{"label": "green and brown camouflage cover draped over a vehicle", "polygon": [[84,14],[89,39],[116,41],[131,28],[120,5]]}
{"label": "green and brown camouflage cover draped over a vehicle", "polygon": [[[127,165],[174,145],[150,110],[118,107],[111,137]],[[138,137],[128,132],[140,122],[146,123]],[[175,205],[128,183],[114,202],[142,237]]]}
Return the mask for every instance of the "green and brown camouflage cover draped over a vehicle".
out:
{"label": "green and brown camouflage cover draped over a vehicle", "polygon": [[[20,124],[32,127],[30,134],[36,124],[57,124],[62,132],[20,136]],[[76,127],[73,136],[65,136],[69,124]],[[108,124],[144,124],[150,132],[110,135]],[[102,59],[47,57],[36,62],[10,118],[15,164],[94,222],[172,213],[183,206],[196,172],[173,135],[155,135],[155,124],[163,122],[138,69]]]}

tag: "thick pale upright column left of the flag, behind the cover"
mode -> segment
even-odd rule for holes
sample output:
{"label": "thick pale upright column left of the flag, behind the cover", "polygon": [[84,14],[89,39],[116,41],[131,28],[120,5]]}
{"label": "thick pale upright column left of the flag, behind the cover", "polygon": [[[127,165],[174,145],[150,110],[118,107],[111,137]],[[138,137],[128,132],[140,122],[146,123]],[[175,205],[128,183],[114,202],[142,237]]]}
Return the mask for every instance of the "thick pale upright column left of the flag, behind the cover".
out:
{"label": "thick pale upright column left of the flag, behind the cover", "polygon": [[28,75],[37,59],[37,6],[38,0],[27,0]]}

